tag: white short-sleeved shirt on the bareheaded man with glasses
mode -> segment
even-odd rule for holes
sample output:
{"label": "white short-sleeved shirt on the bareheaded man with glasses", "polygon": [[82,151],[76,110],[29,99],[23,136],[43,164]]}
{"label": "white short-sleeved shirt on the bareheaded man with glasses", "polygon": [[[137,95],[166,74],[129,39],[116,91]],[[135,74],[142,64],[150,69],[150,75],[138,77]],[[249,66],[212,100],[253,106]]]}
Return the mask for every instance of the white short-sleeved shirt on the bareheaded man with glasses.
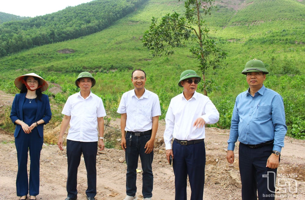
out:
{"label": "white short-sleeved shirt on the bareheaded man with glasses", "polygon": [[152,117],[160,116],[159,97],[145,89],[144,94],[138,98],[135,90],[122,95],[117,113],[127,114],[125,131],[144,132],[152,129]]}

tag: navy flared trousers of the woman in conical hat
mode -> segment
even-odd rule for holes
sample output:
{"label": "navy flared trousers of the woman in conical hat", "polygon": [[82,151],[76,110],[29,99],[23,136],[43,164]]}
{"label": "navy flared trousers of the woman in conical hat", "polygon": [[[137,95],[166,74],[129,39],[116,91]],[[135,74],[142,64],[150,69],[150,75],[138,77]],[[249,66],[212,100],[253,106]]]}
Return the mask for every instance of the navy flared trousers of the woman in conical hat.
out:
{"label": "navy flared trousers of the woman in conical hat", "polygon": [[[28,193],[32,196],[39,194],[39,162],[43,138],[39,136],[37,128],[30,134],[21,129],[15,138],[17,150],[18,172],[16,178],[17,196],[24,196]],[[27,176],[27,160],[30,151],[30,180]]]}

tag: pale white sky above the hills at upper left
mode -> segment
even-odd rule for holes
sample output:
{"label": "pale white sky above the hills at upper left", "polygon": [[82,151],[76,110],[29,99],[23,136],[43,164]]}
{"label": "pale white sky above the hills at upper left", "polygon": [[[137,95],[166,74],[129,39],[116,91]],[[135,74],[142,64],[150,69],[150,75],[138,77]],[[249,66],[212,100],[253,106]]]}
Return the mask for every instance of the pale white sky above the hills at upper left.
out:
{"label": "pale white sky above the hills at upper left", "polygon": [[0,12],[22,17],[35,17],[59,10],[68,6],[80,5],[92,0],[0,0]]}

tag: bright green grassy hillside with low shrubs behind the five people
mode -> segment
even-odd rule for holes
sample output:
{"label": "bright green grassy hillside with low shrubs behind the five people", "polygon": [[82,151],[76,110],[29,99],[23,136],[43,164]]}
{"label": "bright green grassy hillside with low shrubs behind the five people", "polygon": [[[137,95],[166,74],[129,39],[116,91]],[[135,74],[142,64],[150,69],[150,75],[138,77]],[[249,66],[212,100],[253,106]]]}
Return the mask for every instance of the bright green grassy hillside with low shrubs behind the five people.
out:
{"label": "bright green grassy hillside with low shrubs behind the five people", "polygon": [[[216,72],[209,69],[206,74],[208,96],[220,112],[220,120],[214,126],[230,127],[235,97],[248,87],[241,71],[247,61],[257,58],[264,61],[270,72],[264,84],[283,96],[289,135],[305,139],[304,1],[217,0],[215,3],[219,10],[207,16],[206,22],[210,37],[228,57],[223,63],[227,64],[226,68]],[[62,89],[56,94],[46,92],[57,105],[52,110],[52,120],[60,121],[60,110],[67,96],[77,91],[73,84],[77,74],[89,71],[97,79],[92,91],[102,97],[108,116],[117,117],[122,93],[133,88],[132,70],[142,68],[147,74],[146,88],[159,95],[161,118],[164,118],[170,98],[182,91],[177,85],[181,72],[194,69],[199,73],[198,63],[188,47],[176,49],[169,57],[152,58],[142,45],[142,36],[153,16],[160,18],[174,11],[184,14],[184,10],[184,1],[147,0],[97,33],[4,56],[0,58],[0,89],[17,93],[13,84],[16,76],[38,73],[54,83],[50,84],[50,90],[59,86]],[[60,53],[63,49],[73,53]],[[200,92],[202,85],[199,83],[198,87]]]}

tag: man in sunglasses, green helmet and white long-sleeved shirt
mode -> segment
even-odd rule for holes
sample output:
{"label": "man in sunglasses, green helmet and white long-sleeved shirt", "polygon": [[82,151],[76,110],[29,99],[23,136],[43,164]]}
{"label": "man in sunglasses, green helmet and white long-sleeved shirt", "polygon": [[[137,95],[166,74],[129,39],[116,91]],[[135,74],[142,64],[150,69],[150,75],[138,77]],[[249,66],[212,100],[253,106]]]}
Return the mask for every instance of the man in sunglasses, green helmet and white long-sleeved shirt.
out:
{"label": "man in sunglasses, green helmet and white long-sleeved shirt", "polygon": [[192,190],[191,200],[203,199],[204,127],[216,123],[219,113],[209,97],[196,92],[200,80],[194,70],[181,73],[178,86],[183,87],[183,92],[171,99],[165,117],[164,142],[169,163],[172,156],[175,200],[187,199],[187,176]]}

